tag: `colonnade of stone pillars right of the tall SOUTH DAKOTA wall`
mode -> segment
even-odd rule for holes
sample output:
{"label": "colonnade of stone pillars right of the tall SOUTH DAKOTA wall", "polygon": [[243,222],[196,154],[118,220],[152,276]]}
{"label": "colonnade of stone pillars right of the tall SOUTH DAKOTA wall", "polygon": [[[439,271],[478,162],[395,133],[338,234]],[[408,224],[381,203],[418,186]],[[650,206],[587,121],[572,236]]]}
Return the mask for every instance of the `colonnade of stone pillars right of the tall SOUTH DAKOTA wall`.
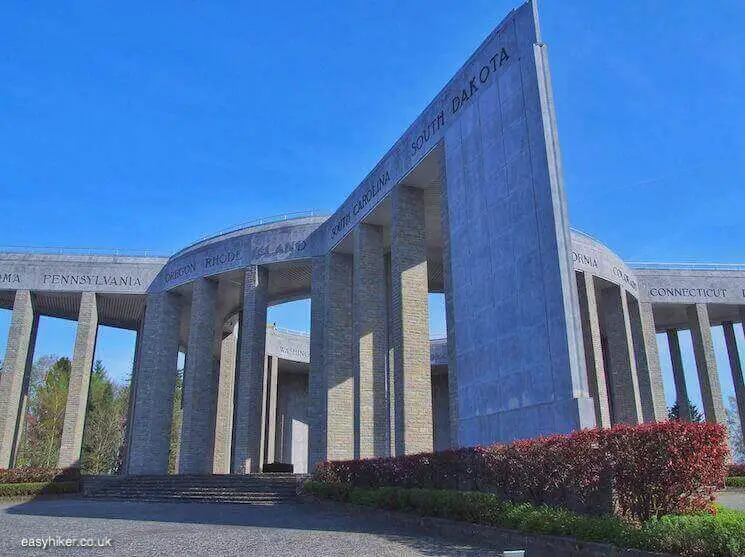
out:
{"label": "colonnade of stone pillars right of the tall SOUTH DAKOTA wall", "polygon": [[[577,272],[590,396],[599,427],[667,419],[652,304],[626,289]],[[686,307],[706,420],[726,423],[706,304]],[[740,310],[745,321],[745,308]],[[741,423],[745,423],[745,385],[733,323],[723,324]],[[688,392],[677,330],[667,331],[676,400],[681,419],[690,420]]]}

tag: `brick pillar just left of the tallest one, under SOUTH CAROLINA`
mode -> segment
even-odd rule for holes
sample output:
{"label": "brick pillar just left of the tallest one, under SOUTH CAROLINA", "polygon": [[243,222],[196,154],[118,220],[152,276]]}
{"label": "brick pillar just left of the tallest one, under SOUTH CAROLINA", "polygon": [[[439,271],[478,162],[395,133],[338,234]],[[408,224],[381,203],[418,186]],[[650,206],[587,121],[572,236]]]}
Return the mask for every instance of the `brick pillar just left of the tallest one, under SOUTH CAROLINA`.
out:
{"label": "brick pillar just left of the tallest one, under SOUTH CAROLINA", "polygon": [[386,280],[383,232],[354,230],[354,368],[357,396],[355,457],[389,454],[386,417]]}

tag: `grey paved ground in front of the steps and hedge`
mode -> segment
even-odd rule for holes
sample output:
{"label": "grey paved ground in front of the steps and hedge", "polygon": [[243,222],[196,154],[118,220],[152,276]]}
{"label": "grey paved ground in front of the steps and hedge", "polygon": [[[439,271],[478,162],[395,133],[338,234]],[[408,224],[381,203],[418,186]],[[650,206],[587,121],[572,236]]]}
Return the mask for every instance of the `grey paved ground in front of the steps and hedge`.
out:
{"label": "grey paved ground in front of the steps and hedge", "polygon": [[[111,538],[111,548],[21,546],[23,538]],[[249,506],[48,499],[0,504],[0,555],[499,555],[312,503]]]}

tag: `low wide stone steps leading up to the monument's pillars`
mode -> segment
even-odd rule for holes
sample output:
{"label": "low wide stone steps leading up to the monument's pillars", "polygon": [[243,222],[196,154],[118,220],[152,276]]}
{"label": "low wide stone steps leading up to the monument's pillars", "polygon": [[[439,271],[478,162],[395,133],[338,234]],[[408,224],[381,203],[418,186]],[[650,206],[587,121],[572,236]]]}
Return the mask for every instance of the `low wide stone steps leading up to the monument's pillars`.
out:
{"label": "low wide stone steps leading up to the monument's pillars", "polygon": [[84,476],[83,495],[100,499],[273,505],[294,501],[307,475]]}

